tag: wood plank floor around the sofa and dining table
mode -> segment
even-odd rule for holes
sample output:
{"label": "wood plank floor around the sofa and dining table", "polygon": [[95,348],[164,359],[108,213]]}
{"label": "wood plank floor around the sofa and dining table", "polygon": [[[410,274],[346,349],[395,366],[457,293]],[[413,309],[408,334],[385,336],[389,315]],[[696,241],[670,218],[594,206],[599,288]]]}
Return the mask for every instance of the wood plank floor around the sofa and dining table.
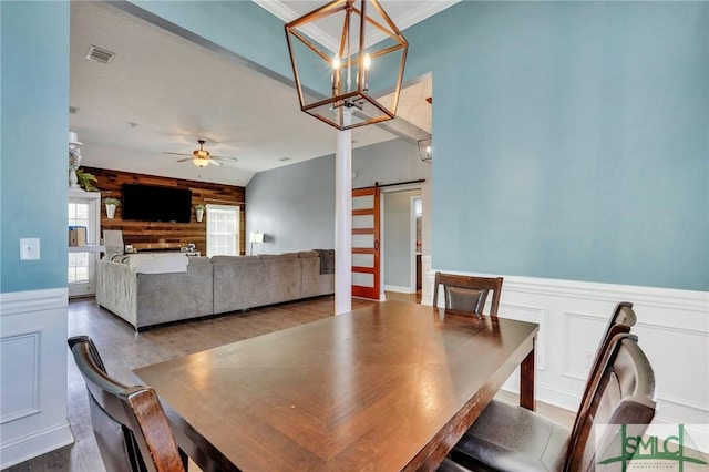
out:
{"label": "wood plank floor around the sofa and dining table", "polygon": [[[387,293],[390,299],[409,299],[420,302],[420,295]],[[376,301],[352,299],[352,309],[376,304]],[[93,298],[75,299],[69,304],[69,336],[88,335],[93,338],[109,372],[117,380],[132,384],[131,371],[143,366],[236,342],[271,331],[290,328],[304,322],[316,321],[332,316],[333,297],[239,311],[199,321],[179,322],[157,327],[136,334],[111,312],[96,307]],[[96,447],[86,390],[73,358],[66,349],[69,371],[68,417],[75,442],[72,445],[40,455],[3,472],[24,471],[69,471],[104,472]],[[508,396],[507,396],[508,398]],[[557,411],[558,410],[558,411]],[[557,421],[573,421],[571,412],[549,409]],[[191,464],[189,471],[198,470]]]}

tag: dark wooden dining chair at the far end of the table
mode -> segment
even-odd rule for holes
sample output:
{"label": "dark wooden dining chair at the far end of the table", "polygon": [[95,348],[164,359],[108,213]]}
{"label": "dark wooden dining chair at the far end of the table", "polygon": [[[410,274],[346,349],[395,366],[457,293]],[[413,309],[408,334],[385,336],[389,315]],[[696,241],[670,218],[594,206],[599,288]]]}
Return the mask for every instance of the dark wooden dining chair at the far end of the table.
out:
{"label": "dark wooden dining chair at the far end of the table", "polygon": [[445,309],[482,315],[487,295],[493,291],[490,316],[497,316],[502,277],[475,277],[436,271],[433,284],[433,308],[438,308],[439,286],[443,286]]}

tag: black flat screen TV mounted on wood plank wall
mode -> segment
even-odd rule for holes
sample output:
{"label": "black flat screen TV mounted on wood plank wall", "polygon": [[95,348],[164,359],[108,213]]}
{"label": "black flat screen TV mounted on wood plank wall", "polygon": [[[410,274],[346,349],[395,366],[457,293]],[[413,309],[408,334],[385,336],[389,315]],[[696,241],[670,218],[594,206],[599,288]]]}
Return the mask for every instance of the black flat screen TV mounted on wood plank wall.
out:
{"label": "black flat screen TV mounted on wood plank wall", "polygon": [[123,219],[189,223],[192,191],[158,185],[123,184]]}

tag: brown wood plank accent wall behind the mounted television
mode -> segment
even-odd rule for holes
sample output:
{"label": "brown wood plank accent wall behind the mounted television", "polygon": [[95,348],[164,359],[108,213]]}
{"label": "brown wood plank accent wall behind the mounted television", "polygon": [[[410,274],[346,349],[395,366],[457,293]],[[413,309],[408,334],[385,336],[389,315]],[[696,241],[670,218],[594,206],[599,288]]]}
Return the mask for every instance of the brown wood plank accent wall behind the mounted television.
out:
{"label": "brown wood plank accent wall behind the mounted television", "polygon": [[109,219],[105,205],[101,205],[101,229],[123,230],[123,242],[132,244],[136,249],[179,249],[192,243],[203,256],[207,254],[207,216],[205,212],[202,223],[197,223],[194,206],[202,204],[238,205],[239,212],[239,254],[246,249],[246,204],[244,187],[213,184],[207,182],[184,181],[179,178],[158,177],[155,175],[134,174],[123,171],[110,171],[97,167],[82,167],[93,174],[99,182],[95,186],[101,191],[101,198],[114,197],[121,199],[124,183],[162,185],[167,187],[189,188],[192,191],[192,222],[189,223],[158,223],[134,222],[121,218],[121,206],[116,208],[115,217]]}

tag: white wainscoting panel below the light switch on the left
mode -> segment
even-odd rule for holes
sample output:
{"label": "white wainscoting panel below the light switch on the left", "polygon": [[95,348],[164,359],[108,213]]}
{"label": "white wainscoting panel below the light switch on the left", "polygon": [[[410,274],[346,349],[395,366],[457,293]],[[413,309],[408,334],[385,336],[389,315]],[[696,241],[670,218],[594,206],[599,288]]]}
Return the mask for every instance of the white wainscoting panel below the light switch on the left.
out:
{"label": "white wainscoting panel below the light switch on the left", "polygon": [[0,294],[0,469],[71,444],[65,288]]}

